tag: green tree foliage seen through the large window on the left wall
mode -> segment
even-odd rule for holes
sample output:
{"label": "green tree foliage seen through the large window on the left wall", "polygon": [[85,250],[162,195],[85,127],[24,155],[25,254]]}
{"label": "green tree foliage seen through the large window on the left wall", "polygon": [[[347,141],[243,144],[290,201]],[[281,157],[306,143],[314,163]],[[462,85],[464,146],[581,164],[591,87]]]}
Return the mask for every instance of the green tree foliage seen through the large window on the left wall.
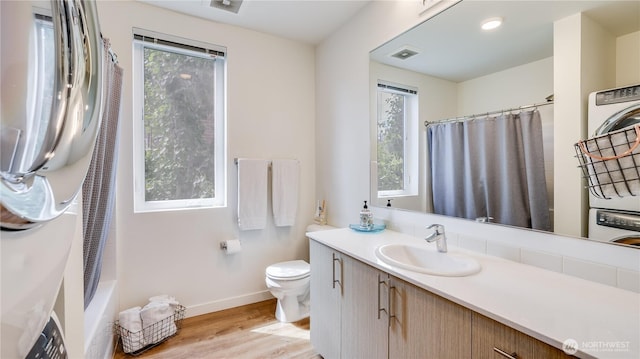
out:
{"label": "green tree foliage seen through the large window on the left wall", "polygon": [[144,49],[146,201],[214,196],[213,61]]}

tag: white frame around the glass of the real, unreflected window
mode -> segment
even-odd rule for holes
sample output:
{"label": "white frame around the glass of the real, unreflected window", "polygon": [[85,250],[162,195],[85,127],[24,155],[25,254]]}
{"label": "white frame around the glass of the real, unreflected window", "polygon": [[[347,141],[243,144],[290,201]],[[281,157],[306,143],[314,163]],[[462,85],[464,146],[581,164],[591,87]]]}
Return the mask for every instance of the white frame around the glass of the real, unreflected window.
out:
{"label": "white frame around the glass of the real, unreflected window", "polygon": [[[184,209],[220,208],[227,206],[227,66],[226,48],[194,40],[158,34],[134,28],[133,52],[133,180],[134,213],[175,211]],[[138,39],[136,39],[136,35]],[[139,39],[143,37],[143,39]],[[159,39],[150,41],[148,38]],[[168,45],[168,44],[174,44]],[[146,200],[145,172],[145,125],[144,125],[144,49],[169,51],[188,56],[215,59],[214,98],[214,197],[196,199],[174,199],[163,201]],[[198,50],[191,50],[191,49]],[[204,50],[204,51],[203,51]]]}

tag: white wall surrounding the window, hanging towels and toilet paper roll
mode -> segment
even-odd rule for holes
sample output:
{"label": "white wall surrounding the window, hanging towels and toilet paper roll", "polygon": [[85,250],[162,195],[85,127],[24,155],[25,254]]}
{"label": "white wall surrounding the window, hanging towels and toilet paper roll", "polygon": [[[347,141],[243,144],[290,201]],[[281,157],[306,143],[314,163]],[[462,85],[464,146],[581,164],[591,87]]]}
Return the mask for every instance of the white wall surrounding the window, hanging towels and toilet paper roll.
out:
{"label": "white wall surrounding the window, hanging towels and toilet paper roll", "polygon": [[[304,237],[315,186],[314,48],[234,26],[184,16],[136,1],[101,1],[102,32],[125,70],[117,188],[117,280],[120,308],[166,293],[187,316],[270,298],[264,270],[308,258]],[[133,212],[132,27],[227,47],[228,206]],[[301,164],[296,225],[239,232],[235,157],[296,158]],[[240,238],[226,256],[219,242]]]}

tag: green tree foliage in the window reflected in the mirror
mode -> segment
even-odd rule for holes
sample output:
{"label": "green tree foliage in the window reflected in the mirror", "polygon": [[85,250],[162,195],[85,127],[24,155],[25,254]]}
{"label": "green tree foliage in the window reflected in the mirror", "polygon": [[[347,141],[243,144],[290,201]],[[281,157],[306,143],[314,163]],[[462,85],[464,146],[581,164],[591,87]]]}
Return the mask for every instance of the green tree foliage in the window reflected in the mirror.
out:
{"label": "green tree foliage in the window reflected in the mirror", "polygon": [[404,189],[404,100],[378,91],[378,191]]}

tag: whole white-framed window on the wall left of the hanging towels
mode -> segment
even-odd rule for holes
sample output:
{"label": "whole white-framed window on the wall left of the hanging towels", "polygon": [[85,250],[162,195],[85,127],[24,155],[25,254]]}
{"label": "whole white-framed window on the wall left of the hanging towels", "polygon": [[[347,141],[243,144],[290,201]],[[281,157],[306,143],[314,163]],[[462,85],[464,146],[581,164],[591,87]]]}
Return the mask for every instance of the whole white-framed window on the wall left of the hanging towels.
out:
{"label": "whole white-framed window on the wall left of the hanging towels", "polygon": [[136,212],[226,205],[225,52],[134,29]]}

